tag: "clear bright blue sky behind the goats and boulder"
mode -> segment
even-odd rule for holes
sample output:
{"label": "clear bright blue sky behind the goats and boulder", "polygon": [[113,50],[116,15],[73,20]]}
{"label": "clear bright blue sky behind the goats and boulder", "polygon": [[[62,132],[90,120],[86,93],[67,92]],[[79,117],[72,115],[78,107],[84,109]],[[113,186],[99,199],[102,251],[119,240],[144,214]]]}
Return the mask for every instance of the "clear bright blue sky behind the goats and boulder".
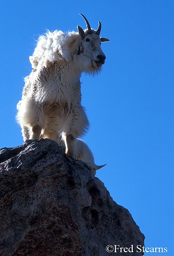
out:
{"label": "clear bright blue sky behind the goats and boulder", "polygon": [[[101,22],[106,55],[96,77],[83,74],[82,105],[90,130],[83,138],[96,176],[145,235],[145,247],[174,255],[174,2],[169,0],[9,1],[0,6],[0,148],[23,143],[15,122],[23,77],[38,35],[92,28]],[[148,255],[151,253],[145,253]]]}

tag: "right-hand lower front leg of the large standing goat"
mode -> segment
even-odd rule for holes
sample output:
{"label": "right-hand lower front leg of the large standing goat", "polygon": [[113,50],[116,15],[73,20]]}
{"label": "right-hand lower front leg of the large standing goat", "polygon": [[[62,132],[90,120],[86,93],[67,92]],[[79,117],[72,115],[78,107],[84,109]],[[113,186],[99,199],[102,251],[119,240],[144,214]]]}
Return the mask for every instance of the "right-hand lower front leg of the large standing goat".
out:
{"label": "right-hand lower front leg of the large standing goat", "polygon": [[66,146],[66,155],[76,159],[77,146],[75,136],[73,134],[64,135],[64,142]]}

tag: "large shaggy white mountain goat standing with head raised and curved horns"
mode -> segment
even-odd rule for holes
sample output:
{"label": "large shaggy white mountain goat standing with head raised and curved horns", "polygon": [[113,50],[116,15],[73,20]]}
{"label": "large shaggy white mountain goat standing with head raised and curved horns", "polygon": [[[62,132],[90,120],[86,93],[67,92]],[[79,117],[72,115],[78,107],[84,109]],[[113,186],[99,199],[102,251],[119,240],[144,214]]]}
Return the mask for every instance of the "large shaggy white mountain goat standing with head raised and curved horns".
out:
{"label": "large shaggy white mountain goat standing with head raised and curved horns", "polygon": [[110,41],[91,29],[78,32],[55,30],[41,35],[30,62],[32,72],[25,78],[22,99],[17,104],[23,140],[49,138],[66,146],[66,154],[77,158],[77,138],[89,127],[81,106],[80,76],[95,74],[105,63],[101,42]]}

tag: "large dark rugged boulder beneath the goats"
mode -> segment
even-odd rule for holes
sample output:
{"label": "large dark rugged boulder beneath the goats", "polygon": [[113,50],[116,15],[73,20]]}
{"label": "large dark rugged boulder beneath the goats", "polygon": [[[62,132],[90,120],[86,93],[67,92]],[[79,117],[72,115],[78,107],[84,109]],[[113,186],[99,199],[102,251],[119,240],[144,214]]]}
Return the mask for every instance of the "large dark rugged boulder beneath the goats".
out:
{"label": "large dark rugged boulder beneath the goats", "polygon": [[2,148],[0,162],[1,256],[105,256],[115,255],[114,245],[133,245],[120,256],[144,254],[136,252],[144,235],[128,210],[55,141]]}

